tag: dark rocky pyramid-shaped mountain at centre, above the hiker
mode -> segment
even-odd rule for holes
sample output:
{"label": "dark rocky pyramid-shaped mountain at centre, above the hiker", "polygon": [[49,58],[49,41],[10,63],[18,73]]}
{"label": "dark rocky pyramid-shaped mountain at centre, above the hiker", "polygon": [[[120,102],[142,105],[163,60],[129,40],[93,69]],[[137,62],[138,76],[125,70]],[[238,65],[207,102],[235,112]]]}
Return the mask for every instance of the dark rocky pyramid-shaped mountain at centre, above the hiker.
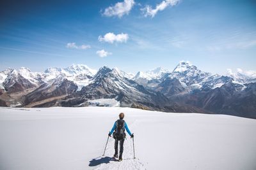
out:
{"label": "dark rocky pyramid-shaped mountain at centre, above the hiker", "polygon": [[[115,98],[121,106],[143,105],[156,108],[167,103],[167,98],[154,91],[145,89],[135,81],[129,80],[118,69],[101,67],[92,82],[83,87],[79,96],[87,99]],[[150,105],[151,104],[151,105]]]}

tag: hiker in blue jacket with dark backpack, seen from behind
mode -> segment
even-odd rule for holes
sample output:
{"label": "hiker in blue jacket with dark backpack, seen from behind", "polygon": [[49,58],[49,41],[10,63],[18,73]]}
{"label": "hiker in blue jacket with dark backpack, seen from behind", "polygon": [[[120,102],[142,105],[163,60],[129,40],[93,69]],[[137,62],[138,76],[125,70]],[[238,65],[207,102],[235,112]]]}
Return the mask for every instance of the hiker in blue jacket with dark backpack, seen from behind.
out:
{"label": "hiker in blue jacket with dark backpack, seen from behind", "polygon": [[124,113],[119,114],[119,119],[116,120],[113,128],[109,132],[108,136],[111,137],[113,133],[113,138],[115,139],[115,155],[114,158],[118,158],[118,141],[120,141],[120,152],[119,152],[119,161],[122,160],[122,154],[124,151],[124,139],[125,139],[125,129],[128,134],[133,138],[133,134],[130,132],[126,122],[124,121]]}

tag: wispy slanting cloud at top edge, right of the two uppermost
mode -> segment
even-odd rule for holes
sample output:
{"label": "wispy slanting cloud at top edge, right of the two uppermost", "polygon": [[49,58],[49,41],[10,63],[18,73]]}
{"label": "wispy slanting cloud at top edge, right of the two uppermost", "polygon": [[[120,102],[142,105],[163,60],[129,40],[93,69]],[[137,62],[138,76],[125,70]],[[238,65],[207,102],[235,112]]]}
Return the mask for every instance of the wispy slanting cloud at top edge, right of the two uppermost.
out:
{"label": "wispy slanting cloud at top edge, right of the two uppermost", "polygon": [[160,4],[156,5],[155,9],[152,9],[152,6],[146,5],[145,8],[141,8],[145,17],[155,17],[158,11],[163,11],[167,6],[175,6],[180,0],[165,0]]}

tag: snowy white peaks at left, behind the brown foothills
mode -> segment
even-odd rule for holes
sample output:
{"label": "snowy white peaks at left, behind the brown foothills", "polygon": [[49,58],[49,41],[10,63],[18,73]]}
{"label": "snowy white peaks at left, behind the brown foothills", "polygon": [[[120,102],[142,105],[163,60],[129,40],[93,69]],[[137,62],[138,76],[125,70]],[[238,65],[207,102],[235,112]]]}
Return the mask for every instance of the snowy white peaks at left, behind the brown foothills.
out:
{"label": "snowy white peaks at left, behind the brown foothills", "polygon": [[19,71],[6,69],[0,72],[0,89],[9,93],[20,92],[25,89],[39,87],[43,83],[51,84],[56,78],[62,76],[76,83],[78,90],[81,90],[82,87],[90,83],[90,79],[96,72],[96,70],[82,64],[73,64],[64,69],[51,67],[46,69],[44,73],[31,72],[26,67],[20,67]]}

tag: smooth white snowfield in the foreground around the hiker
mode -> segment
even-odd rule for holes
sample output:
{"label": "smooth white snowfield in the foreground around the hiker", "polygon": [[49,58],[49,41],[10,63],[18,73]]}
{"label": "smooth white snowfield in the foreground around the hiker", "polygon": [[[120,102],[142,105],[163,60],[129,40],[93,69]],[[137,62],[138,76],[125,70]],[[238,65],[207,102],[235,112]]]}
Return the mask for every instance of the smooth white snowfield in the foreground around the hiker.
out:
{"label": "smooth white snowfield in the foreground around the hiker", "polygon": [[[125,113],[122,162],[108,132]],[[0,169],[256,169],[256,120],[132,108],[0,108]]]}

